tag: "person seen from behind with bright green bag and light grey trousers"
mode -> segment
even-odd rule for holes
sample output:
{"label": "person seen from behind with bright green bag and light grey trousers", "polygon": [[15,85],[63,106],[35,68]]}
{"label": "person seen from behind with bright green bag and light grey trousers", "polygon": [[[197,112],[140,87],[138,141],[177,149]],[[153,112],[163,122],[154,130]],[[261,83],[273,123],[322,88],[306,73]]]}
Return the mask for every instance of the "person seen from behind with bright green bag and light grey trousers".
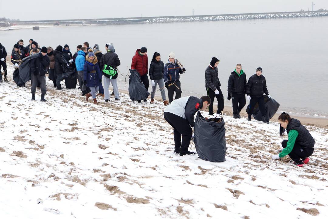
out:
{"label": "person seen from behind with bright green bag and light grey trousers", "polygon": [[119,100],[119,93],[116,78],[118,76],[117,67],[121,64],[118,55],[115,53],[114,46],[110,43],[105,45],[107,53],[101,56],[100,59],[100,69],[102,69],[102,74],[104,75],[104,93],[105,102],[109,101],[109,85],[112,83],[115,100]]}

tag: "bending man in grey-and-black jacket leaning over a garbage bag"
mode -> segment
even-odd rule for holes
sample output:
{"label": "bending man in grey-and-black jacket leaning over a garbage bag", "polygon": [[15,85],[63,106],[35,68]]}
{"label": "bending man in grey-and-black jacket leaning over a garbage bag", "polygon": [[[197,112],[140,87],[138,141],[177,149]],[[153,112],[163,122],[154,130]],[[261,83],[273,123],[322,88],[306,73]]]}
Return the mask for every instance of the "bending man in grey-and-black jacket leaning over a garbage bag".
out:
{"label": "bending man in grey-and-black jacket leaning over a garbage bag", "polygon": [[180,156],[194,154],[188,151],[193,135],[191,127],[195,124],[194,116],[198,110],[206,109],[210,103],[211,99],[208,96],[200,99],[190,96],[175,99],[165,108],[164,119],[173,127],[174,153],[180,153]]}

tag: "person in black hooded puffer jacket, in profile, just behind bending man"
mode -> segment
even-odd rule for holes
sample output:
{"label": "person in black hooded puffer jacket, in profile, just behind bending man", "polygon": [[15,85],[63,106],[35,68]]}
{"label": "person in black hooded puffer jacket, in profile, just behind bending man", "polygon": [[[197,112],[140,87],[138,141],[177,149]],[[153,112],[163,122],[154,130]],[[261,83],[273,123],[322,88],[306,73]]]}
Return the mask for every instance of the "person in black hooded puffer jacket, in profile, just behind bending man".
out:
{"label": "person in black hooded puffer jacket, in profile, just behind bending man", "polygon": [[211,99],[211,104],[208,107],[209,115],[213,116],[213,103],[214,97],[217,99],[217,110],[216,114],[222,115],[224,108],[223,94],[220,89],[221,83],[219,80],[217,65],[220,60],[216,57],[213,57],[209,66],[205,69],[205,89],[207,96]]}

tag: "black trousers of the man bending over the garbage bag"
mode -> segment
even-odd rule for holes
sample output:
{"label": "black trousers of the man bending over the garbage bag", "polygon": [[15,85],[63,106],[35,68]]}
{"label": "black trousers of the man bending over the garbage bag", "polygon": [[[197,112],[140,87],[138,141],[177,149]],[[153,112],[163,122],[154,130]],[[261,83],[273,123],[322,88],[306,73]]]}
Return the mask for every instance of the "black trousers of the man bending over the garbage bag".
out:
{"label": "black trousers of the man bending over the garbage bag", "polygon": [[164,119],[173,127],[174,148],[180,148],[180,152],[182,153],[188,151],[190,140],[193,135],[193,130],[188,121],[169,112],[164,112]]}

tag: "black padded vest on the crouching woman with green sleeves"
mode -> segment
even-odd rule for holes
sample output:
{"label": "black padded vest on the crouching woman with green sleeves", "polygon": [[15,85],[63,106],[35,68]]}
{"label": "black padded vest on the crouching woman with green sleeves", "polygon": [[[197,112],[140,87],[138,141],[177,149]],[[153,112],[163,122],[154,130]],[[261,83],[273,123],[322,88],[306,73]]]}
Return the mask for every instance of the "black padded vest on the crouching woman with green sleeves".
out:
{"label": "black padded vest on the crouching woman with green sleeves", "polygon": [[296,130],[298,132],[298,136],[296,138],[295,143],[310,149],[314,147],[315,141],[310,132],[301,125],[301,122],[297,119],[292,119],[290,123],[287,125],[287,133],[289,133],[290,130]]}

